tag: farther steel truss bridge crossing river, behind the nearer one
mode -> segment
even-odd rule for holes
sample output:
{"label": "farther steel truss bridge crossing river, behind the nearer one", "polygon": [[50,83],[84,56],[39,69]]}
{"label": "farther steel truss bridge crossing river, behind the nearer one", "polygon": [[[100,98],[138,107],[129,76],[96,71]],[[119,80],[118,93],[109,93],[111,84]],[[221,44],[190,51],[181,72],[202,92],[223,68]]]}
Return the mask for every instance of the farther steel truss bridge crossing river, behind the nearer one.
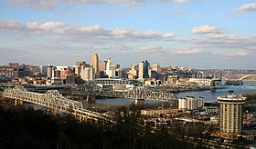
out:
{"label": "farther steel truss bridge crossing river, behind the nearer one", "polygon": [[72,86],[69,90],[71,94],[87,94],[92,96],[107,96],[119,98],[135,98],[150,100],[176,100],[176,96],[171,93],[155,92],[145,87],[134,86],[123,90],[104,90],[97,84],[87,83],[79,86]]}

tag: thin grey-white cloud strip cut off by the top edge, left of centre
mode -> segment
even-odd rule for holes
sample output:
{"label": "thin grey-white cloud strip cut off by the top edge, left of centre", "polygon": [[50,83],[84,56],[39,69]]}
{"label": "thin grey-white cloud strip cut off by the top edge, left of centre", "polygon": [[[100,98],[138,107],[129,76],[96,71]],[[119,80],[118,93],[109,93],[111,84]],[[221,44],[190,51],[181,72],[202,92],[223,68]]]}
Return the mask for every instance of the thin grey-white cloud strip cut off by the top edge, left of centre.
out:
{"label": "thin grey-white cloud strip cut off by the top edge, left of centre", "polygon": [[146,2],[173,2],[186,3],[188,0],[10,0],[13,3],[18,3],[28,7],[51,9],[59,3],[72,4],[119,4],[119,5],[136,5]]}

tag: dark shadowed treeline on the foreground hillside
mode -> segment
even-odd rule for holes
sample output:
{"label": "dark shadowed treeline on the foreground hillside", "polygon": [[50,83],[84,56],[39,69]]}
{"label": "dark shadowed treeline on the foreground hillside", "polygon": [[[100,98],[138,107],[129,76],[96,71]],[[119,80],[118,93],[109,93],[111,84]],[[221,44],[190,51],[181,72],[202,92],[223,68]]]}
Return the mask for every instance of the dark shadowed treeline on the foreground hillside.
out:
{"label": "dark shadowed treeline on the foreground hillside", "polygon": [[184,141],[198,136],[202,125],[177,122],[158,129],[144,125],[139,111],[122,108],[114,112],[116,122],[82,122],[72,116],[52,116],[32,108],[0,106],[0,148],[200,148]]}

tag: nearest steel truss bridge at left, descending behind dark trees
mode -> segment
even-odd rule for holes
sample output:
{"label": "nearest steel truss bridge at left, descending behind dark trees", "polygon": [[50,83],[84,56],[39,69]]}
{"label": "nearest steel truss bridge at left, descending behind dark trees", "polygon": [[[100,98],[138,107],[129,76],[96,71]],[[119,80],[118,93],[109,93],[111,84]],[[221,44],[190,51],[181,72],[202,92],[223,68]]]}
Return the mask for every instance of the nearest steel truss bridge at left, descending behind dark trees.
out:
{"label": "nearest steel truss bridge at left, descending behind dark trees", "polygon": [[70,100],[59,94],[57,90],[48,90],[45,94],[38,94],[27,91],[22,85],[16,85],[14,88],[6,88],[3,96],[27,103],[42,105],[66,114],[73,114],[77,119],[80,119],[80,121],[88,119],[103,119],[109,121],[107,115],[83,109],[81,102]]}

